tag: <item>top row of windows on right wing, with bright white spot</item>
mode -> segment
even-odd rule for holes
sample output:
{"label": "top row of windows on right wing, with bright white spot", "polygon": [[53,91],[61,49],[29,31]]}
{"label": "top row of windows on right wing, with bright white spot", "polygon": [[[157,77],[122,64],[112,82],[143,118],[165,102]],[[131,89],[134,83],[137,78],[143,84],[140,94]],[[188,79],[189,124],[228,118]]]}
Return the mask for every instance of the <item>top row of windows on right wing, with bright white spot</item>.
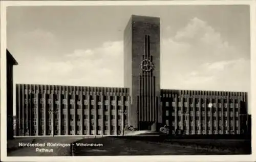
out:
{"label": "top row of windows on right wing, with bright white spot", "polygon": [[[195,103],[195,105],[196,105],[196,107],[199,107],[199,103]],[[205,107],[205,105],[206,105],[206,104],[203,103],[203,104],[201,105],[201,107]],[[235,103],[235,104],[229,103],[229,108],[233,108],[233,105],[234,105],[234,107],[236,107],[236,108],[239,107],[238,103]],[[169,107],[169,102],[165,102],[165,106],[166,106],[166,107]],[[173,107],[176,107],[175,102],[172,102],[172,106],[173,106]],[[184,107],[193,107],[193,103],[188,104],[187,102],[184,102],[184,103],[183,103],[183,106],[184,106]],[[178,107],[182,107],[182,103],[181,103],[181,102],[178,102]],[[217,106],[216,106],[216,103],[212,103],[212,104],[208,104],[207,107],[215,107],[215,108],[216,108]],[[221,107],[222,107],[222,104],[221,104],[221,103],[218,103],[218,107],[221,108]],[[227,108],[227,103],[224,103],[224,107]]]}

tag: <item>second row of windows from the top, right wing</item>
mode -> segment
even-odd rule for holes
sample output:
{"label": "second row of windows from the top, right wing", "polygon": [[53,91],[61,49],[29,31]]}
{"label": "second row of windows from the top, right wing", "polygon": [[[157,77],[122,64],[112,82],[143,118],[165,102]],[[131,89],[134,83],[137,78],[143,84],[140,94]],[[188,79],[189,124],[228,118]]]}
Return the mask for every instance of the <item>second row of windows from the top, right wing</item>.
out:
{"label": "second row of windows from the top, right wing", "polygon": [[[196,111],[195,114],[196,114],[196,117],[199,117],[199,111]],[[212,114],[212,117],[216,117],[217,112],[215,111],[215,112],[211,113],[211,111],[207,111],[207,117],[210,117],[211,114]],[[223,113],[222,113],[222,111],[219,111],[218,117],[222,117],[222,114],[224,114],[224,116],[227,117],[227,111],[224,111]],[[166,110],[165,115],[167,117],[169,116],[169,110]],[[191,117],[193,117],[194,116],[194,111],[189,111],[189,113],[187,113],[187,112],[181,113],[181,110],[179,110],[178,111],[178,116],[182,116],[182,115],[183,116],[190,115]],[[235,112],[235,115],[236,115],[236,117],[239,116],[238,111]],[[172,116],[175,116],[175,112],[172,112]],[[205,111],[201,111],[201,116],[205,117]],[[233,117],[233,111],[229,111],[229,116]]]}

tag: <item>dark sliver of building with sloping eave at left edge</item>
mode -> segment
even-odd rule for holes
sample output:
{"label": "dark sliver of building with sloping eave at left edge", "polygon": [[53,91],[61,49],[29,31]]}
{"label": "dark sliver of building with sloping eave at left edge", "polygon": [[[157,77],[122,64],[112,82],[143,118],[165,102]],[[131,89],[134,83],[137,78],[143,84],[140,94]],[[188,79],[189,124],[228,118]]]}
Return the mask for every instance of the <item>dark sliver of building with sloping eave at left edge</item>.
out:
{"label": "dark sliver of building with sloping eave at left edge", "polygon": [[13,65],[17,61],[11,53],[6,50],[6,97],[7,97],[7,139],[13,138]]}

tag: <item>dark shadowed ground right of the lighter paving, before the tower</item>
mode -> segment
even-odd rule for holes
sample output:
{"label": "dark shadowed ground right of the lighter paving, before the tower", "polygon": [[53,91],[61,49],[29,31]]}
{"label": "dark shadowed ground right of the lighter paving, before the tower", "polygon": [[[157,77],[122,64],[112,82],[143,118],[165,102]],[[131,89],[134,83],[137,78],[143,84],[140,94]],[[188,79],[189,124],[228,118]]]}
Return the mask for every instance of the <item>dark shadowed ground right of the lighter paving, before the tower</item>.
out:
{"label": "dark shadowed ground right of the lighter paving, before the tower", "polygon": [[[74,156],[115,155],[226,155],[239,152],[224,148],[196,145],[194,143],[166,141],[162,136],[109,136],[97,139],[83,139],[74,143]],[[198,143],[197,141],[196,143]],[[225,143],[226,141],[222,141]],[[77,146],[78,144],[102,144],[102,146]]]}

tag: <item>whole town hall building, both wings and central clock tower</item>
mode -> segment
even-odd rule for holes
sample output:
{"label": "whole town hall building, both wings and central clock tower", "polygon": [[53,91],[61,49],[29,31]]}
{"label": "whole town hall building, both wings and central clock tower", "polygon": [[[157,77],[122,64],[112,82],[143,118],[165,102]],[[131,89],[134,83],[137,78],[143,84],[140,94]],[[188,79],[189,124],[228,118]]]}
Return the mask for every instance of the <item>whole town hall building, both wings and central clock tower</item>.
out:
{"label": "whole town hall building, both wings and central clock tower", "polygon": [[160,19],[132,15],[124,86],[16,85],[17,135],[123,135],[138,130],[243,134],[247,93],[160,89]]}

